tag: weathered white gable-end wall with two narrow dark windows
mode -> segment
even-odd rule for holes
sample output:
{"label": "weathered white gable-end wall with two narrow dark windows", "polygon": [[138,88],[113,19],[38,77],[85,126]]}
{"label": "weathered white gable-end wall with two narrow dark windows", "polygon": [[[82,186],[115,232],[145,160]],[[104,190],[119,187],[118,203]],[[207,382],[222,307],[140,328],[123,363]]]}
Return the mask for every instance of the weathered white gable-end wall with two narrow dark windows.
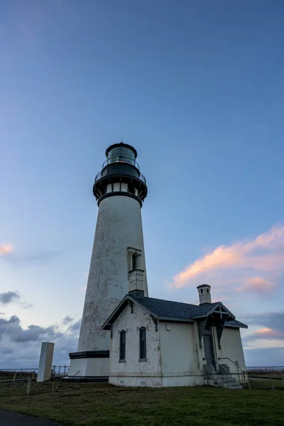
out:
{"label": "weathered white gable-end wall with two narrow dark windows", "polygon": [[[139,329],[146,327],[147,361],[139,360]],[[119,362],[121,330],[126,331],[126,361]],[[141,306],[127,306],[113,325],[109,383],[117,386],[161,386],[160,339],[149,312]]]}

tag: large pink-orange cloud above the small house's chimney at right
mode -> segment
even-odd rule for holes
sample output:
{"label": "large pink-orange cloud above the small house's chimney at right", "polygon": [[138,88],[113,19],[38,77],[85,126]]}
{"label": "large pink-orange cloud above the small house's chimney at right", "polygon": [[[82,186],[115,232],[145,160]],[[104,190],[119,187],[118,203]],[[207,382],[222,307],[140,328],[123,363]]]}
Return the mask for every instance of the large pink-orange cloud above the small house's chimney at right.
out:
{"label": "large pink-orange cloud above the small house's chimney at right", "polygon": [[238,291],[266,294],[283,271],[284,226],[274,226],[251,241],[218,246],[175,275],[172,287],[216,280],[220,285],[229,281]]}

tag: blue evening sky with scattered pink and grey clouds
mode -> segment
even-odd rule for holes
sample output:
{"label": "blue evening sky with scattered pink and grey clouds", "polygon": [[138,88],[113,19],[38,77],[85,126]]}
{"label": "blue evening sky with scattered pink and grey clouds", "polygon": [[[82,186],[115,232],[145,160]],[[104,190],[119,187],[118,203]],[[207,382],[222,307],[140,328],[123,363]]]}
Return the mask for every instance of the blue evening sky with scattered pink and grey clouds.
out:
{"label": "blue evening sky with scattered pink and grey clouds", "polygon": [[138,151],[151,297],[212,286],[284,365],[282,0],[0,0],[0,367],[76,351],[105,149]]}

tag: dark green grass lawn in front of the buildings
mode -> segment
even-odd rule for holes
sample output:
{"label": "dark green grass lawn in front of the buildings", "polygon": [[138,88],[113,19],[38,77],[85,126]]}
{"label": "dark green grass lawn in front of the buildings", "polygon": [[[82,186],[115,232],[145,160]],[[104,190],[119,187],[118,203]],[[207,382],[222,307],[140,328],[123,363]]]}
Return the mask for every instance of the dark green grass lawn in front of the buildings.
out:
{"label": "dark green grass lawn in front of the buildings", "polygon": [[70,426],[284,425],[284,388],[116,388],[106,383],[0,383],[0,407]]}

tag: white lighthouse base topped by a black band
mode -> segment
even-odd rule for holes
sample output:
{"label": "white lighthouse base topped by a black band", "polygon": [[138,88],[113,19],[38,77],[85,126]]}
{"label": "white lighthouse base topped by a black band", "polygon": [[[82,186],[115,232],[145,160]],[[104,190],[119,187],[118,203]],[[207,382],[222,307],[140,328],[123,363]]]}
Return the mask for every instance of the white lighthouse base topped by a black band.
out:
{"label": "white lighthouse base topped by a black band", "polygon": [[69,356],[68,377],[77,379],[103,378],[104,381],[107,381],[109,377],[109,351],[72,352]]}

